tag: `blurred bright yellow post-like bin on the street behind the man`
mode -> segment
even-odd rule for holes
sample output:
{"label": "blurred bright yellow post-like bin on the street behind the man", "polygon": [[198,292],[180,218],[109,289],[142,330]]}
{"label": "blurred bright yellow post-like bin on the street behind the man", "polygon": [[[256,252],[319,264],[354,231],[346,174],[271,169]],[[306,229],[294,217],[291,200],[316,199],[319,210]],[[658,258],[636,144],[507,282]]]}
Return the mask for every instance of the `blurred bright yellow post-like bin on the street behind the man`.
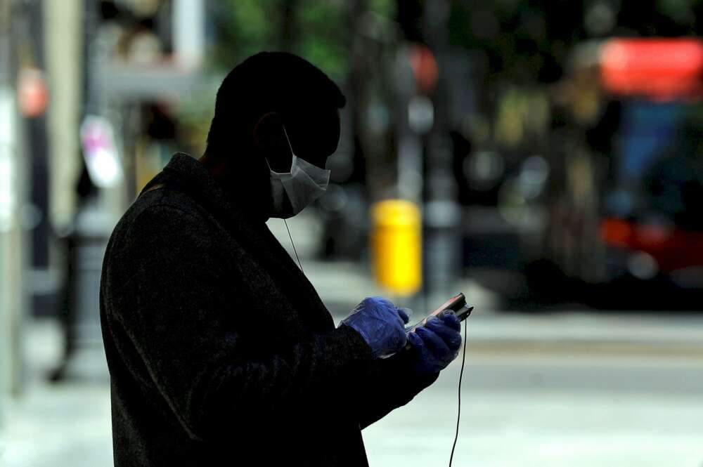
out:
{"label": "blurred bright yellow post-like bin on the street behind the man", "polygon": [[375,203],[371,215],[371,256],[376,281],[395,296],[410,296],[422,284],[420,209],[402,199]]}

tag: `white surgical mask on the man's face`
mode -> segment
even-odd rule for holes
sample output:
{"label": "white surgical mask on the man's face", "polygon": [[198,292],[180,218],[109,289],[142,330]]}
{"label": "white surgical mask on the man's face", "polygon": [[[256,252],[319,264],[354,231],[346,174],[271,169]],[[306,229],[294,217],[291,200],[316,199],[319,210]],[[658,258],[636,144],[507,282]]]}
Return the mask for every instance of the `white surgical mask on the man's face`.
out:
{"label": "white surgical mask on the man's face", "polygon": [[[283,127],[285,139],[288,140],[292,161],[290,172],[278,173],[271,170],[269,165],[269,180],[271,182],[271,197],[273,209],[271,217],[287,219],[305,209],[305,206],[321,197],[330,183],[330,171],[300,159],[293,152],[288,139],[288,132]],[[269,162],[266,161],[266,164]],[[285,199],[290,202],[287,204]]]}

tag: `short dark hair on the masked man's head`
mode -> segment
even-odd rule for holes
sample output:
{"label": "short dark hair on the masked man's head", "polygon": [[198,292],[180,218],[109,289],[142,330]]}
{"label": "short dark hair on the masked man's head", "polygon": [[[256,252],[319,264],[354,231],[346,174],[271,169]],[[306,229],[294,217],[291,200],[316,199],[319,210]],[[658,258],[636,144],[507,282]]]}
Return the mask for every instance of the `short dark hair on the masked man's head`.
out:
{"label": "short dark hair on the masked man's head", "polygon": [[267,112],[295,115],[311,110],[337,110],[347,98],[318,67],[288,52],[260,52],[225,77],[217,91],[207,144],[251,134]]}

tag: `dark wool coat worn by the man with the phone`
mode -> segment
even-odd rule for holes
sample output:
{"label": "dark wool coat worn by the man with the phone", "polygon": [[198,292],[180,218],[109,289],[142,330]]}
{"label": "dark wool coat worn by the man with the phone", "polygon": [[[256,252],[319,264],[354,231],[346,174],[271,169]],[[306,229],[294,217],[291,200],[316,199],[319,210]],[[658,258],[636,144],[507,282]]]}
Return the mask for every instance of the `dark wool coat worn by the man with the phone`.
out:
{"label": "dark wool coat worn by the man with the phone", "polygon": [[361,429],[437,378],[335,329],[245,206],[175,154],[112,232],[100,313],[115,466],[366,466]]}

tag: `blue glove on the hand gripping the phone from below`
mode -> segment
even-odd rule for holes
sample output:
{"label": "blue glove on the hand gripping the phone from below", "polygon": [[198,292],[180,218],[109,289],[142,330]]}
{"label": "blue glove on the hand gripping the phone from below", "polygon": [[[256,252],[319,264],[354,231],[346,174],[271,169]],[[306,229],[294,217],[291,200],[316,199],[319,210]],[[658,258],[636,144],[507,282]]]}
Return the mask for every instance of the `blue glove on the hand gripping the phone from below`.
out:
{"label": "blue glove on the hand gripping the phone from below", "polygon": [[451,310],[437,316],[408,333],[408,342],[415,353],[413,369],[419,373],[439,373],[459,355],[461,323]]}

